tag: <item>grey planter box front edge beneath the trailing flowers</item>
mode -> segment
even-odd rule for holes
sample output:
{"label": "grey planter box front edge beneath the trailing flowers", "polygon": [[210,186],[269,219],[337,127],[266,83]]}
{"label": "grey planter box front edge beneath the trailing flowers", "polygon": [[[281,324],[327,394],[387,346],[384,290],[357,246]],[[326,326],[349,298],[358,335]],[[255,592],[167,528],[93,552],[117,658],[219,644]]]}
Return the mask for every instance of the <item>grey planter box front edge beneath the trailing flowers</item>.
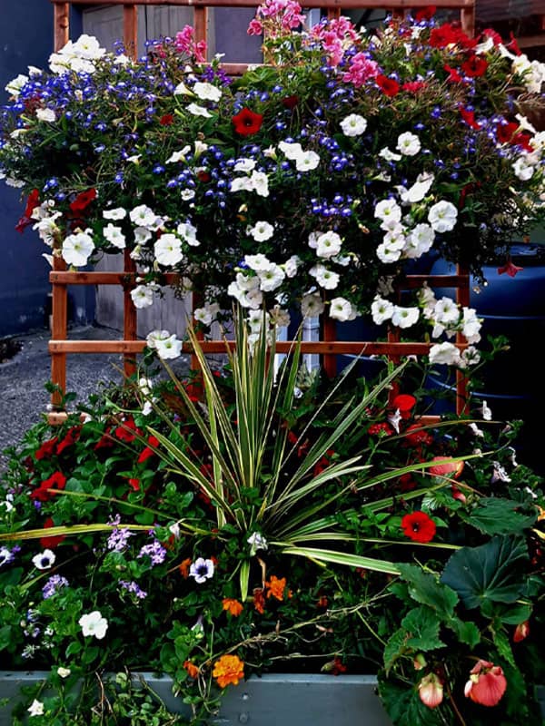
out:
{"label": "grey planter box front edge beneath the trailing flowers", "polygon": [[[20,697],[20,687],[45,678],[44,672],[0,672],[0,698],[8,704],[0,709],[0,726],[12,726],[11,711]],[[174,698],[170,678],[142,673],[171,711],[186,707]],[[250,678],[229,686],[218,726],[391,726],[376,694],[376,679],[366,675],[274,674]]]}

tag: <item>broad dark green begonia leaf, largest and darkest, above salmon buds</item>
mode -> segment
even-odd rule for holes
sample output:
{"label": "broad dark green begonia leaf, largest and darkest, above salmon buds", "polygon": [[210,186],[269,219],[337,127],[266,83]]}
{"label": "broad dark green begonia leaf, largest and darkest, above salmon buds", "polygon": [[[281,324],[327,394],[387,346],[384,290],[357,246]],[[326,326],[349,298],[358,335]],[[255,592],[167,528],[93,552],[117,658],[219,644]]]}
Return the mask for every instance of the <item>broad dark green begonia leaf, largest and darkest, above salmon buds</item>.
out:
{"label": "broad dark green begonia leaf, largest and darkest, above salmon buds", "polygon": [[514,603],[525,584],[528,552],[519,537],[492,537],[451,555],[441,575],[469,610],[486,602]]}

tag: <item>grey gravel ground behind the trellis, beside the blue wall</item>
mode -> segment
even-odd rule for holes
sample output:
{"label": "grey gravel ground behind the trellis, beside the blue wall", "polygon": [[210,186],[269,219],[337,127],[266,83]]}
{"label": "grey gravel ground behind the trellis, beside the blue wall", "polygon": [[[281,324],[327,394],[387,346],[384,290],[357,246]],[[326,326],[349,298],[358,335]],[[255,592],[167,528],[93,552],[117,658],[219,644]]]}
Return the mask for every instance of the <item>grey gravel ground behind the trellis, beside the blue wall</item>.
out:
{"label": "grey gravel ground behind the trellis, beside the blue wall", "polygon": [[[70,339],[121,339],[118,330],[102,327],[74,328]],[[13,358],[0,363],[0,468],[5,466],[1,453],[6,446],[17,444],[25,431],[46,412],[50,396],[45,383],[51,376],[51,359],[47,351],[50,334],[46,329],[17,336],[21,350]],[[79,354],[66,358],[66,390],[85,400],[94,393],[99,381],[119,383],[123,357],[117,354]],[[178,368],[178,367],[176,367]],[[187,369],[187,358],[181,359],[180,371]]]}

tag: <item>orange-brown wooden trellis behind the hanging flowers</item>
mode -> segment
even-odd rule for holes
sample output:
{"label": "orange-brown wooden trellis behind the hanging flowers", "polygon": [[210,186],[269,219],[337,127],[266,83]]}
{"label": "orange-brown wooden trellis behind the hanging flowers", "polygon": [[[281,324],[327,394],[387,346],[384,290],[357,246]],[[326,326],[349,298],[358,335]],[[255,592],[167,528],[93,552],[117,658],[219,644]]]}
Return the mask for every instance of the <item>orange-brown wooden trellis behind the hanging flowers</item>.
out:
{"label": "orange-brown wooden trellis behind the hanging flowers", "polygon": [[[70,6],[71,5],[122,5],[124,24],[124,45],[127,52],[136,53],[137,47],[137,10],[139,5],[173,5],[193,7],[193,27],[195,40],[207,40],[208,8],[209,7],[256,7],[256,0],[70,0],[61,2],[51,0],[54,5],[54,50],[60,50],[70,38]],[[430,5],[429,0],[299,0],[303,8],[323,8],[328,18],[337,18],[342,10],[386,9],[394,15],[403,15],[410,9],[423,8]],[[433,0],[437,8],[460,10],[461,28],[468,34],[474,34],[475,0]],[[228,74],[242,74],[246,64],[223,64]],[[54,257],[53,270],[49,280],[53,293],[52,339],[49,342],[51,354],[51,379],[61,391],[66,387],[66,355],[68,353],[119,353],[124,356],[124,373],[131,376],[135,371],[135,356],[145,347],[145,341],[139,340],[136,333],[136,309],[131,298],[131,290],[135,287],[137,272],[129,250],[124,251],[124,270],[121,272],[73,272],[66,269],[64,260]],[[176,275],[165,275],[166,284],[176,280]],[[470,275],[468,270],[458,267],[456,275],[408,275],[404,288],[417,289],[427,282],[431,287],[456,289],[457,302],[462,306],[470,304]],[[69,340],[68,339],[68,295],[69,285],[118,285],[124,289],[124,337],[122,340]],[[338,355],[383,355],[399,359],[410,355],[426,355],[430,343],[400,342],[399,333],[392,330],[387,342],[369,341],[338,341],[336,340],[335,322],[322,316],[321,340],[302,342],[302,353],[315,353],[322,356],[322,365],[329,376],[336,372]],[[459,348],[467,347],[467,342],[457,335],[456,344]],[[221,353],[224,351],[223,341],[203,341],[205,353]],[[278,341],[276,349],[279,353],[287,353],[290,342]],[[191,352],[187,346],[184,350]],[[457,412],[461,413],[467,403],[466,381],[463,374],[457,374]],[[54,412],[49,415],[52,423],[60,423],[65,414],[60,410],[61,395],[54,393],[52,397]]]}

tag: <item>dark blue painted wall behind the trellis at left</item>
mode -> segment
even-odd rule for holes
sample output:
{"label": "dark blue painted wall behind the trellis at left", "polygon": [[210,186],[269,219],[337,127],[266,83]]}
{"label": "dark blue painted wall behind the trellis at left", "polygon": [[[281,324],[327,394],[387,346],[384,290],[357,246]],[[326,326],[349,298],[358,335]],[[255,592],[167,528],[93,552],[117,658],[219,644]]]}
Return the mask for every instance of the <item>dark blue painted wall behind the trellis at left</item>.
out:
{"label": "dark blue painted wall behind the trellis at left", "polygon": [[[8,7],[9,5],[9,7]],[[81,14],[71,18],[72,36],[81,33]],[[0,103],[5,84],[28,65],[44,68],[53,52],[53,5],[48,0],[12,3],[0,0]],[[17,189],[0,182],[0,337],[45,328],[49,265],[48,251],[32,228],[23,234],[15,224],[24,204]],[[84,323],[94,317],[94,289],[70,289],[70,317]]]}

